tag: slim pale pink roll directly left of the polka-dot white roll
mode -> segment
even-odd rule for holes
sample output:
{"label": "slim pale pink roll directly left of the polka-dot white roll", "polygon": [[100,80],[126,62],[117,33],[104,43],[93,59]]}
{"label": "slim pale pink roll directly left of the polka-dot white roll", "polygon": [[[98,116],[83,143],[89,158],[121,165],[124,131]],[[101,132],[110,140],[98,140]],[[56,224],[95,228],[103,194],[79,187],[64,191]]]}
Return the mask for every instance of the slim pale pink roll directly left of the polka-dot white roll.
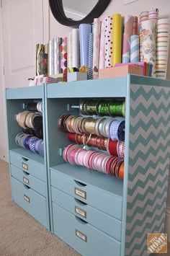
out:
{"label": "slim pale pink roll directly left of the polka-dot white roll", "polygon": [[99,69],[105,68],[105,40],[104,40],[105,21],[101,22],[100,45],[99,45]]}

